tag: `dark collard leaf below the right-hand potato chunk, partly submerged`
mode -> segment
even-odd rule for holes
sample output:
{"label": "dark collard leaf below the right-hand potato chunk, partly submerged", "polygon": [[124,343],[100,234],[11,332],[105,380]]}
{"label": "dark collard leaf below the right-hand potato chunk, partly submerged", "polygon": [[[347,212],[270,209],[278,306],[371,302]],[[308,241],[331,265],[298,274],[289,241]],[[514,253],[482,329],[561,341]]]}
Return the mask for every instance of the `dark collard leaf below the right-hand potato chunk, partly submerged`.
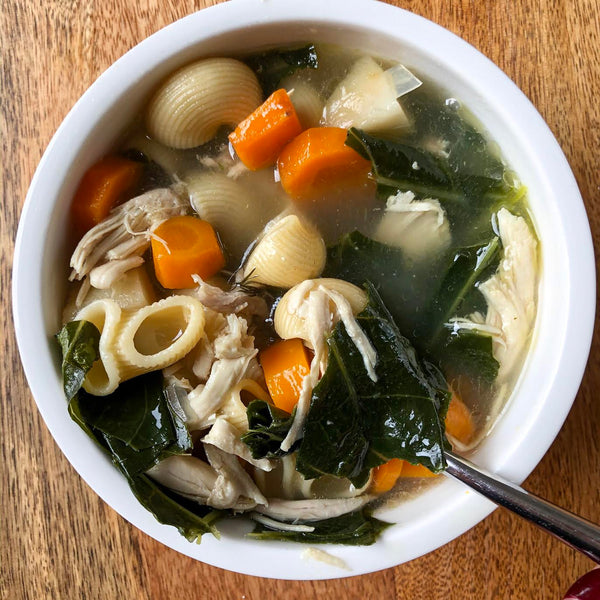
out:
{"label": "dark collard leaf below the right-hand potato chunk, partly submerged", "polygon": [[458,339],[446,323],[476,310],[485,313],[487,307],[477,284],[496,270],[499,255],[494,237],[486,244],[457,248],[428,270],[415,271],[403,262],[401,250],[355,231],[328,249],[324,277],[355,285],[370,280],[398,329],[423,357],[452,375],[481,369],[489,384],[498,370],[489,336],[461,333]]}

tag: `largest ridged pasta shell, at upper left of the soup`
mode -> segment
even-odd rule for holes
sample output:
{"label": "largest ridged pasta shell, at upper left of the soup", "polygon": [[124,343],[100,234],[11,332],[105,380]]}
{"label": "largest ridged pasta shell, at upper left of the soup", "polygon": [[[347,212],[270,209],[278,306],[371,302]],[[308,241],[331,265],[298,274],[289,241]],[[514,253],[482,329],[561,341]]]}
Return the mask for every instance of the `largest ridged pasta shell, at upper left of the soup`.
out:
{"label": "largest ridged pasta shell, at upper left of the soup", "polygon": [[221,125],[237,125],[262,102],[256,75],[233,58],[207,58],[166,79],[146,113],[153,138],[172,148],[194,148]]}

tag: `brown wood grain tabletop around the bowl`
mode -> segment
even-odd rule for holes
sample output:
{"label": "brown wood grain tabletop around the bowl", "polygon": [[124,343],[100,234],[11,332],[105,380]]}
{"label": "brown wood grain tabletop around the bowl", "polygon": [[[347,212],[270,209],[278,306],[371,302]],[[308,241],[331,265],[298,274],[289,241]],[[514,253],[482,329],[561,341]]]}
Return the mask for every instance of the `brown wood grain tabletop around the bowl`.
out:
{"label": "brown wood grain tabletop around the bowl", "polygon": [[[289,0],[270,0],[289,1]],[[324,0],[326,1],[326,0]],[[437,551],[371,575],[284,582],[228,573],[140,533],[79,478],[46,430],[14,338],[10,277],[27,187],[85,89],[159,28],[211,0],[5,0],[2,80],[2,599],[560,598],[592,563],[503,510]],[[395,0],[465,38],[529,96],[577,178],[600,245],[600,3]],[[517,166],[518,167],[518,166]],[[600,347],[573,409],[525,487],[600,521]]]}

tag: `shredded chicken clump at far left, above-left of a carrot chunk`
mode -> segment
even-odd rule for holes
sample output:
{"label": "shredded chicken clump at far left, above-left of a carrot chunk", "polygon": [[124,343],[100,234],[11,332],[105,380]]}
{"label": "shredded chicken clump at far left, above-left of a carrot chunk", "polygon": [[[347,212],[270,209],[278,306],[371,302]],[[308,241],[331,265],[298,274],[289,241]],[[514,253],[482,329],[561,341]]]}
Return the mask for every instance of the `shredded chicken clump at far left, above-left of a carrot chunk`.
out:
{"label": "shredded chicken clump at far left, above-left of a carrot chunk", "polygon": [[181,186],[151,190],[114,208],[81,238],[71,257],[70,280],[82,279],[97,264],[143,254],[152,231],[189,211]]}

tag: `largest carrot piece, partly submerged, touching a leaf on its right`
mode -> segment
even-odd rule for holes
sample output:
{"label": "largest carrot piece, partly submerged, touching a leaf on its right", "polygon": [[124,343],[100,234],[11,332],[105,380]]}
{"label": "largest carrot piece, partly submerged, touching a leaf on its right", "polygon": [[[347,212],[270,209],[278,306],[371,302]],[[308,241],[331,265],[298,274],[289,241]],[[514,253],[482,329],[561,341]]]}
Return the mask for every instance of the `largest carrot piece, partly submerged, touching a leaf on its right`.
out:
{"label": "largest carrot piece, partly submerged, touching a leaf on its right", "polygon": [[281,151],[281,185],[294,200],[310,202],[370,185],[371,162],[346,146],[346,134],[339,127],[313,127]]}

